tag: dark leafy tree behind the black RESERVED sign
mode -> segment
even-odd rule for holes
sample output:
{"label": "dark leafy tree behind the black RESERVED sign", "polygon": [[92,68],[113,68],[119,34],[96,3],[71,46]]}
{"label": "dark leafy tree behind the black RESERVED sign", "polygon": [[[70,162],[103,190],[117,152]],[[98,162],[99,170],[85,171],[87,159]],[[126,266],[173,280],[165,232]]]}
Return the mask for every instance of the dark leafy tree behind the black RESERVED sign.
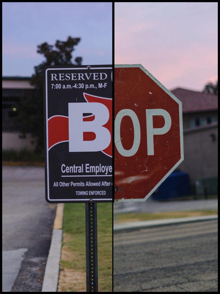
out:
{"label": "dark leafy tree behind the black RESERVED sign", "polygon": [[[80,38],[68,37],[67,41],[57,40],[55,45],[43,43],[38,45],[37,52],[45,57],[38,66],[35,66],[35,74],[31,77],[31,85],[35,91],[30,91],[30,95],[21,101],[21,107],[17,118],[20,126],[21,138],[26,138],[27,133],[31,133],[32,143],[35,143],[35,151],[43,153],[44,149],[44,129],[43,129],[43,69],[45,66],[73,65],[72,51],[79,43]],[[82,63],[82,57],[75,58],[75,65]]]}

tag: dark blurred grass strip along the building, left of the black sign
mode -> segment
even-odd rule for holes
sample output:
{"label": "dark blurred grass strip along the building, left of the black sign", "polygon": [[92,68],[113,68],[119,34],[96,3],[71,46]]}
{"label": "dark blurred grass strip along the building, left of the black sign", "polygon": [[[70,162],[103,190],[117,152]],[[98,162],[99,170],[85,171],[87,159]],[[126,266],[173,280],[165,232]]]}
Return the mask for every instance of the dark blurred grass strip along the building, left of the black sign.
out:
{"label": "dark blurred grass strip along the building, left of the black sign", "polygon": [[44,162],[44,156],[26,148],[16,151],[14,149],[2,150],[2,161],[8,162]]}

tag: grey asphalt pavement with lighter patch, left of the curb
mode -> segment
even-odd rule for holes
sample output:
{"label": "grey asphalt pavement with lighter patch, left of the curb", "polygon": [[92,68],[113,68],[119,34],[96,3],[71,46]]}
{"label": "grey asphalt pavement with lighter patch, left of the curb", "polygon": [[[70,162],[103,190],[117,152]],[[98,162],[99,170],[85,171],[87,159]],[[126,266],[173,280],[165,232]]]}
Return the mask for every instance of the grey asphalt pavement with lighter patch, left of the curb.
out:
{"label": "grey asphalt pavement with lighter patch, left of the curb", "polygon": [[3,292],[40,292],[55,217],[44,168],[3,166]]}

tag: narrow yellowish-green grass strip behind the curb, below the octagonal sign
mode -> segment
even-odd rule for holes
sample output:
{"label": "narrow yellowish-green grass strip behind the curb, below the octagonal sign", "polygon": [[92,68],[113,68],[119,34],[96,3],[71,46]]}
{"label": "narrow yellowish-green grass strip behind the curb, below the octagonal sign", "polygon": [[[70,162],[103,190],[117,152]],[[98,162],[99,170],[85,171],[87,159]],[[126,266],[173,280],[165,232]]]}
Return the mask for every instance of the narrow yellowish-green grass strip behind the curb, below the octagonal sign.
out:
{"label": "narrow yellowish-green grass strip behind the curb, below the octagonal sign", "polygon": [[114,223],[139,221],[139,220],[158,220],[166,218],[184,218],[193,216],[207,216],[218,214],[217,209],[203,209],[195,211],[167,211],[156,213],[122,213],[114,216]]}

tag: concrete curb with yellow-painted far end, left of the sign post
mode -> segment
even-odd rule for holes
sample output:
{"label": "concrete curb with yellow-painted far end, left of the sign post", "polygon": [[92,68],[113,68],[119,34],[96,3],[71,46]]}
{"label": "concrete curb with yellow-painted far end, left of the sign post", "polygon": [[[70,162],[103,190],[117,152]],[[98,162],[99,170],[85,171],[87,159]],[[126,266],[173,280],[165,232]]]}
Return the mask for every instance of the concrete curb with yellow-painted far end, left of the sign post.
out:
{"label": "concrete curb with yellow-painted far end, left of the sign post", "polygon": [[64,203],[58,203],[41,292],[56,292],[60,269]]}

